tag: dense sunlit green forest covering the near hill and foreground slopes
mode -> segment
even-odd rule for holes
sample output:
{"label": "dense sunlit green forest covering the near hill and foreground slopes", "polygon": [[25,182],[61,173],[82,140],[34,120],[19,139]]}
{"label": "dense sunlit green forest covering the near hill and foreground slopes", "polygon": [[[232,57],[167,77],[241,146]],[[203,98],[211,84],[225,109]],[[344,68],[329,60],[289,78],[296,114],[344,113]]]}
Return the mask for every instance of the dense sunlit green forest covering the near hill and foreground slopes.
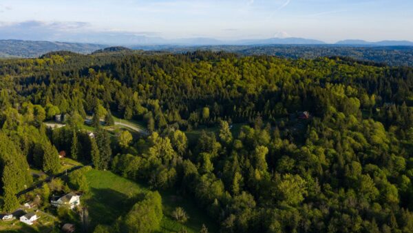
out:
{"label": "dense sunlit green forest covering the near hill and foreground slopes", "polygon": [[[221,232],[413,232],[413,68],[57,52],[2,60],[0,77],[3,210],[32,183],[29,167],[54,174],[65,150],[194,199]],[[56,114],[68,127],[45,128]],[[145,123],[149,136],[113,139],[100,125],[112,114]],[[78,130],[87,115],[95,138]],[[159,199],[149,193],[95,232],[156,230]]]}

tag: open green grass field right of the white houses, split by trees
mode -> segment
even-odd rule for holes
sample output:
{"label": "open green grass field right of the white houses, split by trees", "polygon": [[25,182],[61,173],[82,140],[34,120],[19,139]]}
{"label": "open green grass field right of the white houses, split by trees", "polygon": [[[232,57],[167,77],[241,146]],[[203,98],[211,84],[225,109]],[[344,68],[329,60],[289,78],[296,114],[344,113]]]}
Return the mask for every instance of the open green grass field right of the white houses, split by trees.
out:
{"label": "open green grass field right of the white houses, split by trees", "polygon": [[[90,170],[86,173],[90,193],[85,196],[89,210],[89,220],[92,227],[97,224],[110,225],[129,212],[136,203],[134,196],[140,196],[149,189],[144,185],[129,181],[109,171]],[[202,224],[207,225],[209,232],[217,232],[218,227],[209,216],[192,200],[177,196],[172,191],[160,191],[164,217],[159,232],[178,232],[186,229],[188,232],[199,232]],[[175,207],[183,207],[189,215],[185,224],[178,223],[171,217]]]}

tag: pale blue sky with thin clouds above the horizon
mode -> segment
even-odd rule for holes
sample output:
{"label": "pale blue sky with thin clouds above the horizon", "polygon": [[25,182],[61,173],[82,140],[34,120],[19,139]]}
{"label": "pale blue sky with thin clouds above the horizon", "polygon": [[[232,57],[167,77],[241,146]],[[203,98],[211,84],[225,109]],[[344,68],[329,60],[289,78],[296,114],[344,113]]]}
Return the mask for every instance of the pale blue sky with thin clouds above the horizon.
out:
{"label": "pale blue sky with thin clouds above the horizon", "polygon": [[0,0],[0,39],[413,41],[412,0]]}

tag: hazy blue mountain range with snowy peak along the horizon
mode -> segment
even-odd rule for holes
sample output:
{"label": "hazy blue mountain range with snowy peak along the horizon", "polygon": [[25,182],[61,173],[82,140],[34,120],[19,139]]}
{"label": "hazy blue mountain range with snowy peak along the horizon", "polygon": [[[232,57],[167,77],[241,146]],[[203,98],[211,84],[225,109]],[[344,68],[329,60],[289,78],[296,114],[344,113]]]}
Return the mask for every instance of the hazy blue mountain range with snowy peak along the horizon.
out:
{"label": "hazy blue mountain range with snowy peak along the horizon", "polygon": [[[129,38],[129,37],[128,37]],[[355,47],[384,47],[384,46],[413,46],[411,41],[378,41],[369,42],[362,40],[344,40],[335,44],[328,44],[315,39],[304,39],[297,37],[290,38],[270,38],[270,39],[242,39],[234,41],[224,41],[211,38],[184,38],[184,39],[162,39],[160,37],[134,37],[127,40],[122,38],[118,44],[114,39],[110,45],[125,45],[127,48],[112,47],[105,50],[110,45],[96,43],[68,43],[52,41],[22,41],[22,40],[0,40],[0,57],[39,57],[42,54],[53,51],[70,51],[82,54],[98,52],[116,52],[117,50],[167,50],[169,48],[185,48],[189,46],[207,45],[233,45],[233,46],[257,46],[257,45],[313,45],[313,46],[355,46]],[[127,42],[127,43],[126,43]]]}

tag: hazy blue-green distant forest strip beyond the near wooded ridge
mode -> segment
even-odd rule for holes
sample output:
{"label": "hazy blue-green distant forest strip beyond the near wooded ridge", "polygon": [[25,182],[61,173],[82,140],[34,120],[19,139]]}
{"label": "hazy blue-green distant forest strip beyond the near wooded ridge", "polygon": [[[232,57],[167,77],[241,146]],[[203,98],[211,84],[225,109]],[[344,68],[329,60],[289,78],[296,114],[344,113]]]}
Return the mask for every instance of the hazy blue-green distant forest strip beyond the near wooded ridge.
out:
{"label": "hazy blue-green distant forest strip beyond the near wooded ridge", "polygon": [[211,45],[211,46],[134,46],[142,50],[161,50],[174,53],[211,50],[252,55],[271,55],[290,59],[317,59],[318,57],[350,57],[387,65],[413,65],[412,46],[372,45]]}

